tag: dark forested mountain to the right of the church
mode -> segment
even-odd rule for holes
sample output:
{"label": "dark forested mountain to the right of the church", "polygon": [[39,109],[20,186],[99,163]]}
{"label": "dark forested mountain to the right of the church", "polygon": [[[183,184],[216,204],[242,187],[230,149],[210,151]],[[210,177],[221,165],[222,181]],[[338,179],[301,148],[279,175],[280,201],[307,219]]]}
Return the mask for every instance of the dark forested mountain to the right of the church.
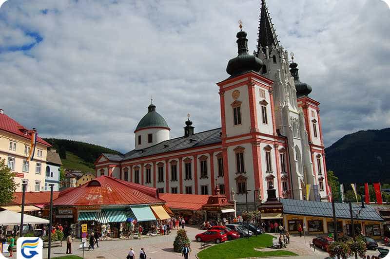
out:
{"label": "dark forested mountain to the right of the church", "polygon": [[325,152],[340,183],[390,183],[390,128],[345,135]]}

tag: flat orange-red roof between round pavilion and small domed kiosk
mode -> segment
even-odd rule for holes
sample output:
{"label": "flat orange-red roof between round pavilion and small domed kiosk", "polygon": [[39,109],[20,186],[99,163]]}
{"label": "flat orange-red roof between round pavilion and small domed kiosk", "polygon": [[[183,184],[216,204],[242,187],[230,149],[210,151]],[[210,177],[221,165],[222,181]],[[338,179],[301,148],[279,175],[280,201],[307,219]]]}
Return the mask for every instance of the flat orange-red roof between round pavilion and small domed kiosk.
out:
{"label": "flat orange-red roof between round pavilion and small domed kiosk", "polygon": [[159,198],[167,202],[173,209],[201,210],[207,203],[210,195],[161,193]]}

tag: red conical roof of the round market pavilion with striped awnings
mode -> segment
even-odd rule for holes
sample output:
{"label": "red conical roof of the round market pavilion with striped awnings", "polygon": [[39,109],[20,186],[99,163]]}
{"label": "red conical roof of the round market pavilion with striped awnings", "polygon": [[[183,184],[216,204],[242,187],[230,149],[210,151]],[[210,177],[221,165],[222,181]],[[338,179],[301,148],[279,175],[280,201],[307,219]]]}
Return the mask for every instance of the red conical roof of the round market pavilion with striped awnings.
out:
{"label": "red conical roof of the round market pavilion with striped awnings", "polygon": [[156,197],[156,188],[102,175],[74,188],[61,191],[54,205],[130,205],[165,203]]}

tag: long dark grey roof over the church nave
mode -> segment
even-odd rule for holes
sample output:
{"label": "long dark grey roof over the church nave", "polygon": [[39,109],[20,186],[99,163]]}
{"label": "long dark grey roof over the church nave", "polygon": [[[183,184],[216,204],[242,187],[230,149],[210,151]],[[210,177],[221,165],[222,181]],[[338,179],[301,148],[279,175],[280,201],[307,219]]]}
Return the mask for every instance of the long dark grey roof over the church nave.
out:
{"label": "long dark grey roof over the church nave", "polygon": [[131,150],[123,156],[103,153],[110,161],[123,161],[129,159],[136,159],[140,157],[152,156],[156,154],[162,154],[166,152],[178,151],[181,149],[187,148],[197,148],[206,145],[218,144],[221,143],[221,128],[210,129],[195,133],[189,137],[178,137],[174,139],[169,139],[163,142],[160,142],[152,147]]}

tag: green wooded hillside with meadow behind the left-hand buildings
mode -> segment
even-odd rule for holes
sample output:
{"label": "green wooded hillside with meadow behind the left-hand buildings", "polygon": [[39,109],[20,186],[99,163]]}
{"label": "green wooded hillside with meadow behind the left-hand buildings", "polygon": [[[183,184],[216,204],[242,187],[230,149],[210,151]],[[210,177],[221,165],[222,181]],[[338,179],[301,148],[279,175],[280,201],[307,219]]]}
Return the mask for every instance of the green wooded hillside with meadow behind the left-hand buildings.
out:
{"label": "green wooded hillside with meadow behind the left-hand buildings", "polygon": [[80,170],[84,173],[94,172],[94,162],[101,153],[121,154],[117,150],[101,147],[80,141],[45,138],[53,148],[56,148],[66,169]]}

